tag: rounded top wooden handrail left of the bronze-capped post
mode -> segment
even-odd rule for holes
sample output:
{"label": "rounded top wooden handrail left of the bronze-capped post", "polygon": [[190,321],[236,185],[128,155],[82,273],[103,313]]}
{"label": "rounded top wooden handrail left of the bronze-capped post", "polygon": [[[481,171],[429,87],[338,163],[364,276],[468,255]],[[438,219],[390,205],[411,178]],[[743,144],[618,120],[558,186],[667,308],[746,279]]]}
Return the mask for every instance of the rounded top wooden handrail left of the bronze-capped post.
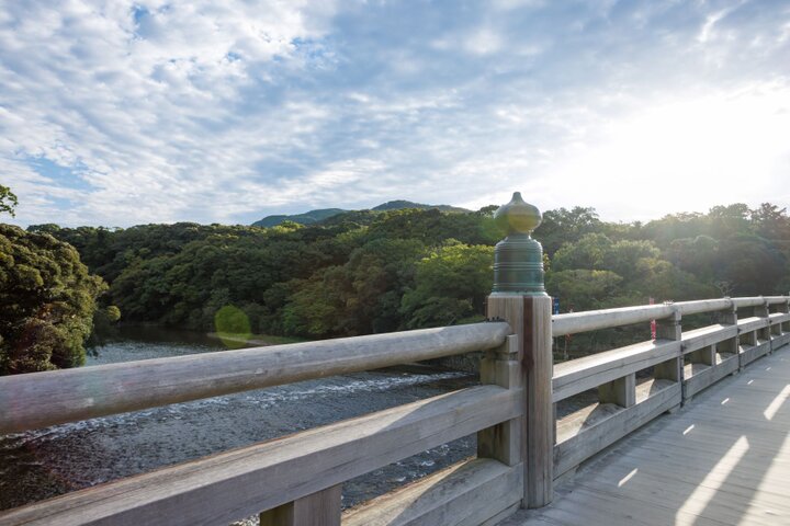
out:
{"label": "rounded top wooden handrail left of the bronze-capped post", "polygon": [[493,348],[507,323],[424,329],[0,378],[0,434]]}

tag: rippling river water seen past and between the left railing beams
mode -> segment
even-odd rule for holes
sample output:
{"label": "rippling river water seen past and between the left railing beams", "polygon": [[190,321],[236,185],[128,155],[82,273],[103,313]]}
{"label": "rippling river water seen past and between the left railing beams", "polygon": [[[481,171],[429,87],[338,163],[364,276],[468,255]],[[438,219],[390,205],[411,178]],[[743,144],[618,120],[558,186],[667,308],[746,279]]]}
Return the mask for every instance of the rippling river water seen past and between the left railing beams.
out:
{"label": "rippling river water seen past and between the left railing beams", "polygon": [[[87,366],[221,351],[202,334],[127,329]],[[0,510],[475,385],[465,373],[380,369],[0,435]],[[348,481],[348,507],[474,455],[461,438]]]}

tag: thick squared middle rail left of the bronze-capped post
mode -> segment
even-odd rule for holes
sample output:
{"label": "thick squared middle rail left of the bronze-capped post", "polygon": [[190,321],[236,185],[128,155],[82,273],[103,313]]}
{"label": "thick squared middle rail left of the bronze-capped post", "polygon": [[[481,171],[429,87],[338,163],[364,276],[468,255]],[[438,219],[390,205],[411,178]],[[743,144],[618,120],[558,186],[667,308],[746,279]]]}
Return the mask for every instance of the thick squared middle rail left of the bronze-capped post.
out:
{"label": "thick squared middle rail left of the bronze-capped post", "polygon": [[227,524],[514,419],[522,398],[463,389],[12,510],[0,523]]}

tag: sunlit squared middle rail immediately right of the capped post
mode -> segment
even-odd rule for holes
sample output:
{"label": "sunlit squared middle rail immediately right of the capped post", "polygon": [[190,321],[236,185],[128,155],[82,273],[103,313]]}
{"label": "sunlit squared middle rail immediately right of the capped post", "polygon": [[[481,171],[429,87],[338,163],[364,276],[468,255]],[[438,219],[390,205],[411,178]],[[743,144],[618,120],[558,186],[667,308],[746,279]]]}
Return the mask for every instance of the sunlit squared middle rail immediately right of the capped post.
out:
{"label": "sunlit squared middle rail immediately right of the capped post", "polygon": [[680,355],[680,342],[655,340],[556,364],[555,402]]}

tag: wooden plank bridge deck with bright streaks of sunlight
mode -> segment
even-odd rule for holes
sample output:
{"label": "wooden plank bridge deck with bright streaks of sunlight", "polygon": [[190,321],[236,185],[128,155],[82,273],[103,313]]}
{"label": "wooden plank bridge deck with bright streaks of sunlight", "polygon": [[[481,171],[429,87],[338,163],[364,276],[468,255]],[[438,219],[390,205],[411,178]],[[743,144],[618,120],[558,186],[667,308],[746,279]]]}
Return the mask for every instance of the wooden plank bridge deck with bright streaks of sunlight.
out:
{"label": "wooden plank bridge deck with bright streaks of sunlight", "polygon": [[790,525],[790,347],[612,446],[521,525]]}

